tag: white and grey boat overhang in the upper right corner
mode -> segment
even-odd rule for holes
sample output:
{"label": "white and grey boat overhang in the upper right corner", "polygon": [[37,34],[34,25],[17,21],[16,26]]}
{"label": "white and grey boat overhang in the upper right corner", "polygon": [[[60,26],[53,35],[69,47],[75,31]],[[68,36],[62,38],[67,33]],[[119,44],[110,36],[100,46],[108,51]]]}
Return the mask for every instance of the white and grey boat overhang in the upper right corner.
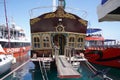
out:
{"label": "white and grey boat overhang in the upper right corner", "polygon": [[120,0],[102,0],[97,14],[99,22],[120,21]]}

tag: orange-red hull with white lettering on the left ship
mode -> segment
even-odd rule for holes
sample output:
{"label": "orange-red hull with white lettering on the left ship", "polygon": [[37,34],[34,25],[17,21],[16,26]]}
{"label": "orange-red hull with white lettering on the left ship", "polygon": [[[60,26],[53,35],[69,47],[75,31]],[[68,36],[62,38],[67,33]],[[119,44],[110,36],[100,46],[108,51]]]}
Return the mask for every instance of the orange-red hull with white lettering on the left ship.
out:
{"label": "orange-red hull with white lettering on the left ship", "polygon": [[30,48],[31,46],[20,47],[20,48],[4,48],[4,51],[6,53],[13,53],[13,56],[17,58],[17,57],[24,56],[25,54],[27,54]]}

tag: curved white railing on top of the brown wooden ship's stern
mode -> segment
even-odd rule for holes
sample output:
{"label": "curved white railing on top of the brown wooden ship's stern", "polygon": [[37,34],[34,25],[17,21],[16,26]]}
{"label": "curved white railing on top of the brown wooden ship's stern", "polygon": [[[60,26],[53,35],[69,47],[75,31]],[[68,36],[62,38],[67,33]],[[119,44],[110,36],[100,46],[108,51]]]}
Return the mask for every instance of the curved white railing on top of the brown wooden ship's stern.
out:
{"label": "curved white railing on top of the brown wooden ship's stern", "polygon": [[[30,19],[38,17],[39,15],[42,15],[43,13],[49,13],[54,12],[57,9],[58,6],[40,6],[36,8],[32,8],[29,11]],[[55,8],[55,10],[53,10]],[[79,8],[71,8],[71,7],[65,7],[65,11],[69,13],[74,13],[80,16],[81,18],[85,19],[88,15],[87,11],[81,10]]]}

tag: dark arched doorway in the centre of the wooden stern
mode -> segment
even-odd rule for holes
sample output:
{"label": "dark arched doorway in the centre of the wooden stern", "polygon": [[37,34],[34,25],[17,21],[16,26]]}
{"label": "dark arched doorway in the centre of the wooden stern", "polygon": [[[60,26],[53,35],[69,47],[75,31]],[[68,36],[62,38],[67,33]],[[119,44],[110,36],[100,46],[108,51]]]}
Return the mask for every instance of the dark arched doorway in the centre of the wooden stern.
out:
{"label": "dark arched doorway in the centre of the wooden stern", "polygon": [[59,48],[60,48],[59,55],[64,55],[64,47],[66,44],[65,36],[62,34],[56,34],[53,37],[53,42],[56,46],[59,46]]}

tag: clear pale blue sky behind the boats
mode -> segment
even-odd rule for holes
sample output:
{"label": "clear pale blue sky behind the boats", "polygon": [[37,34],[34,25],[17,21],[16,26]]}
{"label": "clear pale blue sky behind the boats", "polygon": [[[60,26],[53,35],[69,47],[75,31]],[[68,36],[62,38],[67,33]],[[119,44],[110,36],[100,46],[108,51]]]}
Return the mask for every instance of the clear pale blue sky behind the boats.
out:
{"label": "clear pale blue sky behind the boats", "polygon": [[[0,0],[0,24],[5,23],[3,1]],[[105,38],[120,40],[120,22],[98,22],[97,6],[100,3],[101,0],[66,0],[66,7],[79,9],[78,12],[73,11],[76,15],[87,12],[83,18],[89,21],[88,27],[101,28]],[[27,36],[30,37],[29,11],[35,7],[52,6],[52,0],[6,0],[6,4],[9,22],[13,17],[14,22],[25,29]],[[51,8],[50,10],[52,11]],[[45,9],[42,11],[46,12]]]}

